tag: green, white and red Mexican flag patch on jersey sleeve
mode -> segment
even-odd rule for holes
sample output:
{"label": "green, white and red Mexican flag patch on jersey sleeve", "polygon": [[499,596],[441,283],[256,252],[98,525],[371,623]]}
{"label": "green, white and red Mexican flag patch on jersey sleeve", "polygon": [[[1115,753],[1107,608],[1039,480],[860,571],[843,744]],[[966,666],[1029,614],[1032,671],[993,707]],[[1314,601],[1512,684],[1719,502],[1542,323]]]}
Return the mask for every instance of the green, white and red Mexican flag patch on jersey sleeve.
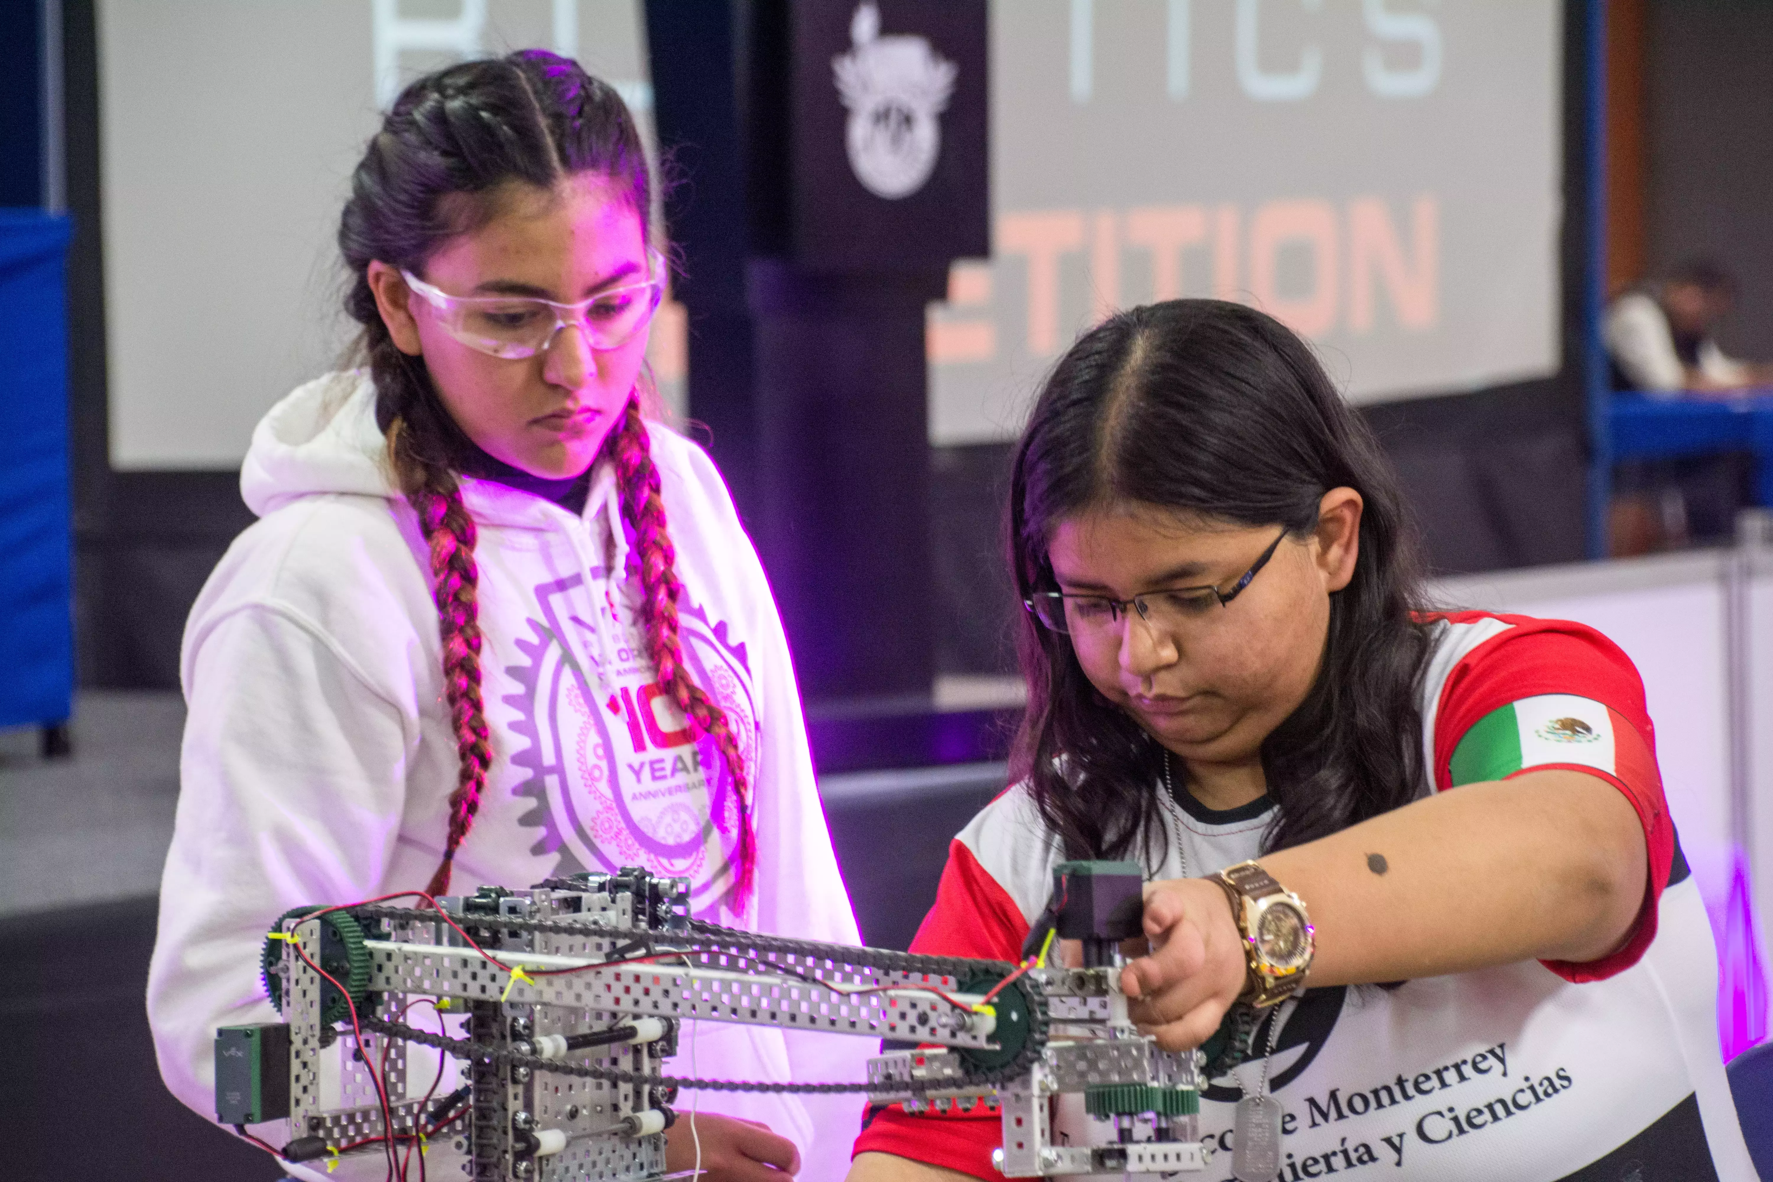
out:
{"label": "green, white and red Mexican flag patch on jersey sleeve", "polygon": [[1454,787],[1504,780],[1523,767],[1582,764],[1617,776],[1615,737],[1628,728],[1592,698],[1544,693],[1480,718],[1454,748]]}

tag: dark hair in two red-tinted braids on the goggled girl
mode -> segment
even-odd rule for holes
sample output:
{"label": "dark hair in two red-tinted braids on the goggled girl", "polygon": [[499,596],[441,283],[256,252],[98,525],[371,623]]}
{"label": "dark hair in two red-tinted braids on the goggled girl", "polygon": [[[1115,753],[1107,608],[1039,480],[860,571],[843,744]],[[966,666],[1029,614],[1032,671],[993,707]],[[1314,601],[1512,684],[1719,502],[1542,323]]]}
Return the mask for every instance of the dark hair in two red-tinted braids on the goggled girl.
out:
{"label": "dark hair in two red-tinted braids on the goggled girl", "polygon": [[[582,172],[605,177],[626,195],[642,237],[651,241],[652,177],[628,106],[578,62],[525,50],[452,66],[406,87],[351,175],[351,200],[339,220],[339,250],[355,276],[346,310],[363,326],[360,351],[376,383],[376,424],[431,548],[443,686],[459,755],[449,836],[427,888],[433,895],[449,890],[456,849],[473,824],[493,760],[480,700],[475,523],[457,482],[473,445],[445,409],[424,358],[394,344],[376,308],[369,264],[381,261],[424,275],[426,261],[445,241],[496,216],[495,198],[504,186],[550,190]],[[647,656],[697,734],[715,737],[732,776],[739,806],[734,893],[743,907],[755,867],[748,776],[725,712],[683,659],[676,549],[638,399],[637,390],[605,454],[615,461],[622,517],[635,530],[629,574],[642,585]]]}

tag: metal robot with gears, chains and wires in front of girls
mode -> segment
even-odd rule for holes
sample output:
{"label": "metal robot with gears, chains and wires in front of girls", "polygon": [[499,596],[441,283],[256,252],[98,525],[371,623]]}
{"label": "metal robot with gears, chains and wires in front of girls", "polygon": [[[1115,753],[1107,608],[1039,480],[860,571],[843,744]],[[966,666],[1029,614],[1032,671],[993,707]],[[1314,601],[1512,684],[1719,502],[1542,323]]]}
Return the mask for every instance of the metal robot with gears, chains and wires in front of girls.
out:
{"label": "metal robot with gears, chains and wires in front of girls", "polygon": [[[436,909],[298,909],[264,950],[285,1021],[216,1033],[216,1113],[241,1131],[287,1118],[293,1139],[275,1150],[287,1161],[367,1155],[395,1171],[417,1148],[431,1178],[654,1182],[681,1090],[853,1092],[998,1111],[995,1161],[1012,1178],[1200,1170],[1199,1053],[1158,1049],[1119,989],[1119,941],[1140,934],[1138,868],[1064,863],[1053,898],[1046,946],[1082,941],[1083,968],[715,927],[690,918],[686,879],[644,870],[482,888]],[[418,1005],[461,1030],[420,1021]],[[688,1079],[667,1063],[684,1021],[911,1049],[871,1060],[867,1081]],[[410,1070],[415,1044],[457,1060],[463,1086],[438,1097],[441,1060],[413,1054],[429,1061]]]}

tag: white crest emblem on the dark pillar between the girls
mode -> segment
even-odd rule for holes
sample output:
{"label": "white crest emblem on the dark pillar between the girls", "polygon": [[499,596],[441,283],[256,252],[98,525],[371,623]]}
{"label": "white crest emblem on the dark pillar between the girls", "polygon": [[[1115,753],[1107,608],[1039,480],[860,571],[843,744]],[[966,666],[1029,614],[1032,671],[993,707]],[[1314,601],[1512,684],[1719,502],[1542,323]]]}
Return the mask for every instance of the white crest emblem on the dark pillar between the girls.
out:
{"label": "white crest emblem on the dark pillar between the girls", "polygon": [[926,37],[881,37],[874,0],[849,21],[849,53],[832,58],[837,92],[849,110],[844,145],[862,188],[897,200],[924,188],[941,156],[938,115],[954,94],[959,67]]}

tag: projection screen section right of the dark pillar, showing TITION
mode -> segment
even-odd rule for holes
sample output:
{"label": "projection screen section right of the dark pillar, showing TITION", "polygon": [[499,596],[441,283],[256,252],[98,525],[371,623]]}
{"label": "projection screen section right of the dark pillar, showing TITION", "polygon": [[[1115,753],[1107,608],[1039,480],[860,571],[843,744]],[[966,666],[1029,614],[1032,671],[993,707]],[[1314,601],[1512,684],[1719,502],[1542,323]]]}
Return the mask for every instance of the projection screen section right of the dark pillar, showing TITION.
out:
{"label": "projection screen section right of the dark pillar, showing TITION", "polygon": [[931,436],[1011,438],[1108,310],[1261,307],[1355,402],[1558,369],[1557,0],[993,7],[995,259],[931,312]]}

